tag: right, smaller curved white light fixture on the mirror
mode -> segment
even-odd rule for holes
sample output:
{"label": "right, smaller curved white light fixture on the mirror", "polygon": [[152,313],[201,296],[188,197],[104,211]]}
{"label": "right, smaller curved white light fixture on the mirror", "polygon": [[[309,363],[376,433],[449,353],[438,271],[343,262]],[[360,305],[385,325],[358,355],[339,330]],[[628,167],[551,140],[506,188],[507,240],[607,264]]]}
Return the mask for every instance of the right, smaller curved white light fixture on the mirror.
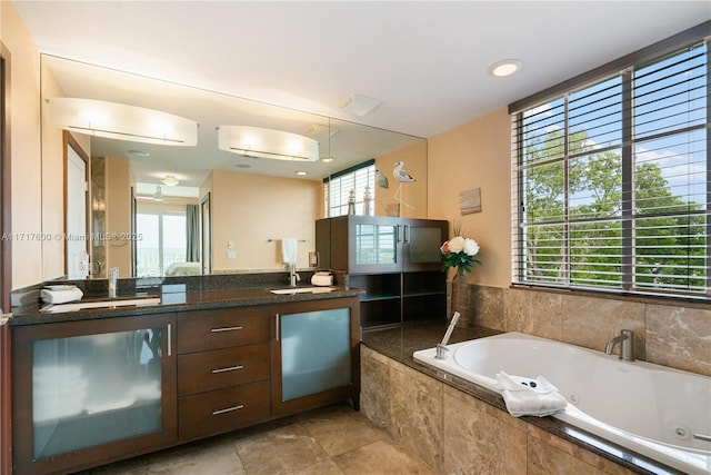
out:
{"label": "right, smaller curved white light fixture on the mirror", "polygon": [[218,127],[218,148],[252,158],[317,161],[319,142],[298,133],[249,126]]}

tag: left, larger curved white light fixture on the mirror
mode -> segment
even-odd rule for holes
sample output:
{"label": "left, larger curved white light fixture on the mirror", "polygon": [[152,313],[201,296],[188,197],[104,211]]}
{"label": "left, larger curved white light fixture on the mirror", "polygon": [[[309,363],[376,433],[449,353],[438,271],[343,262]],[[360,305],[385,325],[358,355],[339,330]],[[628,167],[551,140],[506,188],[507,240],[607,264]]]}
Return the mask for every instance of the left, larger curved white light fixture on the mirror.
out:
{"label": "left, larger curved white light fixture on the mirror", "polygon": [[49,120],[56,127],[96,137],[186,147],[198,144],[198,122],[117,102],[50,99]]}

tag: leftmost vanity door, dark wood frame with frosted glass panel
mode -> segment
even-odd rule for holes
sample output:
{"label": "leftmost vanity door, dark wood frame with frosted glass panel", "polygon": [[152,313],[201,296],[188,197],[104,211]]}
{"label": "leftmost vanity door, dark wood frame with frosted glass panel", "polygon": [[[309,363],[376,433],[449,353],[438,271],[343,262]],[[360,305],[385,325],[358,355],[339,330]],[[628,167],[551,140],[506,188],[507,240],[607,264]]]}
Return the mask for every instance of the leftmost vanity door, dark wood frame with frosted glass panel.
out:
{"label": "leftmost vanity door, dark wood frame with frosted glass panel", "polygon": [[16,474],[174,445],[174,314],[11,327]]}

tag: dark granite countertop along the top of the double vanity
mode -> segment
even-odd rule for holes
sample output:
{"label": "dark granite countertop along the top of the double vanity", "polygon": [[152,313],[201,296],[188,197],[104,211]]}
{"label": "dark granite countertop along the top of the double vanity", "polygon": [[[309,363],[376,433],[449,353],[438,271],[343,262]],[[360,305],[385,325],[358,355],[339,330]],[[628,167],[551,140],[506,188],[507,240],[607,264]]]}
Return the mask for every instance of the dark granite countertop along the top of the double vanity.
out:
{"label": "dark granite countertop along the top of the double vanity", "polygon": [[[300,285],[299,287],[312,287]],[[322,300],[341,297],[353,297],[364,293],[357,288],[336,286],[327,293],[273,294],[270,290],[287,288],[286,286],[264,286],[247,288],[187,289],[182,285],[163,285],[148,291],[119,295],[117,299],[160,297],[160,304],[86,308],[67,313],[43,313],[44,304],[30,304],[12,308],[11,326],[38,325],[59,321],[76,321],[97,318],[114,318],[124,316],[164,314],[170,311],[203,310],[211,308],[247,307],[254,305],[288,304],[294,301]],[[81,301],[109,300],[106,297],[88,295]]]}

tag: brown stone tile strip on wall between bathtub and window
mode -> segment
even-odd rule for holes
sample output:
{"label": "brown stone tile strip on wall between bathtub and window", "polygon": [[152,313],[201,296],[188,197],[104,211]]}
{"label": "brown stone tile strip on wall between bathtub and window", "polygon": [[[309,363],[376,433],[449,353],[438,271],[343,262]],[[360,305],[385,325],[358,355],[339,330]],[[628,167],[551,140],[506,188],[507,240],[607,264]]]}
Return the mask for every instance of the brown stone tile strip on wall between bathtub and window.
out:
{"label": "brown stone tile strip on wall between bathtub and window", "polygon": [[711,376],[711,304],[471,284],[469,297],[471,326],[597,350],[628,328],[637,359]]}

